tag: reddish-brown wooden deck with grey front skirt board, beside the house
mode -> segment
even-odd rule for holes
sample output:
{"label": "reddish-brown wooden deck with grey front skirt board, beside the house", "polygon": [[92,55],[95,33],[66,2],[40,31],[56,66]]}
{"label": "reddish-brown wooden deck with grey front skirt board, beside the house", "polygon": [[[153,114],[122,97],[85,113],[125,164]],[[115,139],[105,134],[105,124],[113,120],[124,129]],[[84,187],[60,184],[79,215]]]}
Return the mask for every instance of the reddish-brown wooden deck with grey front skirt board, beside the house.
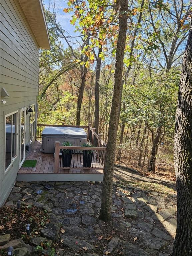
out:
{"label": "reddish-brown wooden deck with grey front skirt board, beside the house", "polygon": [[[41,141],[35,141],[26,157],[26,160],[37,160],[36,167],[21,167],[18,171],[18,181],[102,181],[103,170],[83,170],[82,155],[73,154],[72,163],[74,167],[80,169],[59,169],[58,173],[54,173],[54,154],[46,154],[41,152]],[[74,165],[75,163],[75,165]],[[100,167],[102,162],[96,158],[93,159],[93,166]],[[62,167],[62,159],[60,163]],[[43,176],[42,176],[43,175]],[[46,175],[46,176],[45,176]],[[97,177],[96,177],[97,176]]]}

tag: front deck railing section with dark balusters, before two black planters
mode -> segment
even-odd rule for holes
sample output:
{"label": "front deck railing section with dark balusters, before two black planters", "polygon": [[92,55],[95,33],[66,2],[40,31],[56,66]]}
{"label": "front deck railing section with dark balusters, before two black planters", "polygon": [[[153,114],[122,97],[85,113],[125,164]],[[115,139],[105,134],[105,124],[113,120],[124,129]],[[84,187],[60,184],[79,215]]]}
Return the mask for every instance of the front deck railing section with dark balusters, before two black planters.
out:
{"label": "front deck railing section with dark balusters, before two black planters", "polygon": [[[72,155],[70,150],[73,150]],[[61,151],[63,151],[62,154]],[[104,168],[105,152],[106,147],[68,147],[61,145],[60,142],[55,142],[54,172],[58,173],[61,169],[102,170]]]}

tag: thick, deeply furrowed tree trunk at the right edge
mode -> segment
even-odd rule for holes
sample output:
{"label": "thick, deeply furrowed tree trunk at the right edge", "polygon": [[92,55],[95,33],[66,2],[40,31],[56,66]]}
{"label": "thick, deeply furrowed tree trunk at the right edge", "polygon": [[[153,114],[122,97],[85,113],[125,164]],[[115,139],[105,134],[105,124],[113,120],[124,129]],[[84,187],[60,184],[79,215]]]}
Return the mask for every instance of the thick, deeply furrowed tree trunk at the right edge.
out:
{"label": "thick, deeply furrowed tree trunk at the right edge", "polygon": [[175,125],[177,234],[172,256],[192,255],[192,20],[183,59]]}

